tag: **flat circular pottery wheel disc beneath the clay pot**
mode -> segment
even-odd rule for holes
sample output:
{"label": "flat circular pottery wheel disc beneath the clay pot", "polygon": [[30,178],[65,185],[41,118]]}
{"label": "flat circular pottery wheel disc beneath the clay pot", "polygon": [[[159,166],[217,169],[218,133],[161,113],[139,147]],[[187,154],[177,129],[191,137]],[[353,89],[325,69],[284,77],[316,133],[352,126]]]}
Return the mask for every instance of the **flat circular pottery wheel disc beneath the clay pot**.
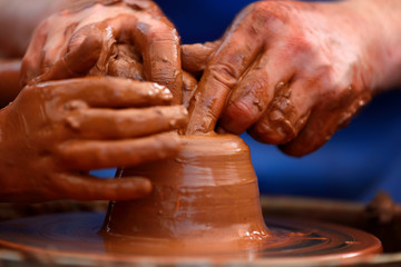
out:
{"label": "flat circular pottery wheel disc beneath the clay pot", "polygon": [[[153,261],[173,260],[175,264],[179,263],[180,258],[184,260],[188,257],[267,264],[332,260],[335,263],[348,260],[349,263],[381,251],[380,240],[361,230],[321,222],[265,219],[274,237],[258,248],[218,253],[202,253],[200,249],[194,255],[185,255],[178,249],[173,254],[168,250],[164,255],[160,253],[163,251],[159,249],[160,246],[172,248],[172,245],[138,240],[140,247],[151,247],[154,243],[154,249],[150,249],[148,254],[143,254],[128,248],[115,254],[107,250],[110,244],[106,244],[105,238],[99,235],[104,219],[104,214],[75,212],[1,222],[0,246],[33,255],[129,263],[140,263],[144,257],[147,259],[150,257]],[[135,244],[135,240],[129,240],[129,243]]]}

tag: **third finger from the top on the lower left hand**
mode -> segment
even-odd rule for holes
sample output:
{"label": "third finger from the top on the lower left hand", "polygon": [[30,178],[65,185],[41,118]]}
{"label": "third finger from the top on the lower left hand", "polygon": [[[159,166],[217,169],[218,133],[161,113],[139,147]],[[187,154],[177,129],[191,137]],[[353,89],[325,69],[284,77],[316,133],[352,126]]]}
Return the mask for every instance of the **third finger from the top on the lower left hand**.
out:
{"label": "third finger from the top on the lower left hand", "polygon": [[174,157],[180,148],[176,134],[115,141],[68,141],[57,148],[60,164],[68,168],[90,170],[136,166]]}

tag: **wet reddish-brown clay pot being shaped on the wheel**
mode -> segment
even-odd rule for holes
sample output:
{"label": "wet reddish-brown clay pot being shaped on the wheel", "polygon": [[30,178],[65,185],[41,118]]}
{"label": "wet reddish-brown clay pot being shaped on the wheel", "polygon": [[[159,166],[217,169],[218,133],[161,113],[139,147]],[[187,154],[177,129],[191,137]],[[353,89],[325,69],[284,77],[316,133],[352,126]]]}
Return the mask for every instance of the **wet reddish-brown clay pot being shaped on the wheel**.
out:
{"label": "wet reddish-brown clay pot being shaped on the wheel", "polygon": [[[183,253],[184,248],[197,250],[196,244],[232,250],[268,238],[247,145],[232,135],[182,139],[183,150],[175,159],[119,171],[117,178],[149,178],[153,192],[134,201],[110,202],[102,228],[106,243],[124,239],[145,249],[149,241],[153,248],[176,247]],[[110,244],[106,247],[113,250]]]}

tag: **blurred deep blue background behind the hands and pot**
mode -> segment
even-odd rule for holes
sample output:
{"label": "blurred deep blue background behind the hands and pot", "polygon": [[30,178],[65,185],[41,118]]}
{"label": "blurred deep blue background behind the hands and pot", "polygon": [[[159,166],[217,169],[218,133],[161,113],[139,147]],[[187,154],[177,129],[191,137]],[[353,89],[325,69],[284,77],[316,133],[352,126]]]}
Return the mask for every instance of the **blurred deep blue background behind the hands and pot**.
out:
{"label": "blurred deep blue background behind the hands and pot", "polygon": [[[159,0],[183,43],[219,38],[245,0]],[[400,73],[401,75],[401,73]],[[401,91],[376,97],[319,151],[292,158],[242,137],[263,194],[370,200],[383,189],[401,201]],[[100,176],[113,176],[113,170]]]}

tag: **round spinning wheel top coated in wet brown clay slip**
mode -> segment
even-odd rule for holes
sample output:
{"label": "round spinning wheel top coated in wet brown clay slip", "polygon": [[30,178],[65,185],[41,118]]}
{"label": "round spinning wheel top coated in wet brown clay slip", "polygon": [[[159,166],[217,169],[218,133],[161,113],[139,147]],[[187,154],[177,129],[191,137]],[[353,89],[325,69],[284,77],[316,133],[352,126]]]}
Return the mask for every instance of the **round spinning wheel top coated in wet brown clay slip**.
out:
{"label": "round spinning wheel top coated in wet brown clay slip", "polygon": [[[199,264],[199,260],[209,265],[235,260],[235,264],[252,261],[275,267],[332,266],[333,263],[338,266],[361,264],[381,251],[380,240],[372,235],[316,221],[268,218],[266,224],[272,236],[254,241],[252,248],[238,249],[238,243],[99,235],[104,218],[104,214],[67,212],[0,222],[0,246],[28,251],[46,260],[51,257],[57,263],[68,257],[71,263],[77,263],[71,259],[81,258],[86,264],[96,259],[102,265],[105,261],[187,265]],[[239,244],[245,245],[244,241]]]}

